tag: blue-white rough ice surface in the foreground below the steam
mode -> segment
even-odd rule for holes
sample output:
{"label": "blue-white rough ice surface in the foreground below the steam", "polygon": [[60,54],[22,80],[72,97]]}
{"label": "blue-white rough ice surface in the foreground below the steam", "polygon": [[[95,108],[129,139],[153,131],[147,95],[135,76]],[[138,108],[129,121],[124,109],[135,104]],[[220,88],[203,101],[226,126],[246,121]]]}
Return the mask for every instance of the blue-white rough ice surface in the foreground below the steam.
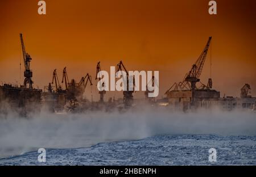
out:
{"label": "blue-white rough ice surface in the foreground below the steam", "polygon": [[[217,162],[209,162],[209,149]],[[256,136],[163,135],[86,148],[46,149],[0,159],[0,165],[256,165]]]}

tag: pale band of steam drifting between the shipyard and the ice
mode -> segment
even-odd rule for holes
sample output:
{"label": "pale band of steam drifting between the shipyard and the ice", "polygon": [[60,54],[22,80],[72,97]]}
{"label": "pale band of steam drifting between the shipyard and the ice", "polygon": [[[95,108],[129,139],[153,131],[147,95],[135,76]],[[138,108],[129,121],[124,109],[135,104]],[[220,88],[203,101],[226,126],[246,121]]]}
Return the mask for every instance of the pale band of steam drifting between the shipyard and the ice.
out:
{"label": "pale band of steam drifting between the shipyard and the ice", "polygon": [[22,118],[0,114],[0,157],[44,148],[88,147],[98,142],[138,140],[157,134],[256,135],[256,114],[218,109],[171,112],[139,108],[124,113],[40,112]]}

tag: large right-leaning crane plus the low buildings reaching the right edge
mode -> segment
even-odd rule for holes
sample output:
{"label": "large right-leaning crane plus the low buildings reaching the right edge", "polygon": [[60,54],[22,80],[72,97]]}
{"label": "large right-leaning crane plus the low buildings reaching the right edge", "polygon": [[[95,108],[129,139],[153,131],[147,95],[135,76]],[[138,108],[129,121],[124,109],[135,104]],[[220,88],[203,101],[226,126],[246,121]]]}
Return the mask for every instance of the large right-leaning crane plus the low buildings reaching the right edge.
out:
{"label": "large right-leaning crane plus the low buildings reaching the right edge", "polygon": [[[255,98],[247,96],[250,86],[246,84],[241,88],[241,98],[233,98],[227,96],[220,98],[220,91],[212,89],[212,78],[208,79],[208,84],[200,82],[200,75],[203,71],[204,62],[207,58],[208,49],[210,47],[209,37],[207,44],[195,64],[182,82],[174,83],[169,90],[166,91],[168,98],[168,107],[187,111],[188,109],[219,107],[225,110],[234,108],[250,108],[255,107]],[[199,83],[197,86],[196,83]]]}

